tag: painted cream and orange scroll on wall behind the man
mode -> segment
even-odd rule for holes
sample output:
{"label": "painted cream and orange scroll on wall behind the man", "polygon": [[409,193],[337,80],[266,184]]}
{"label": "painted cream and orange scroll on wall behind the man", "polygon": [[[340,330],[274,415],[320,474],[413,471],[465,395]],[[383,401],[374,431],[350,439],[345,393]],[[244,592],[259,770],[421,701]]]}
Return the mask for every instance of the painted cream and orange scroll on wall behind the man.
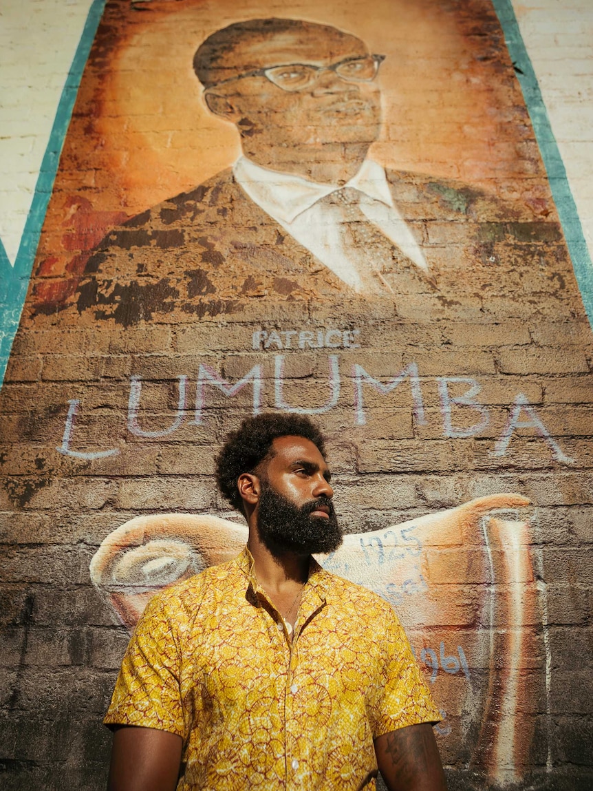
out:
{"label": "painted cream and orange scroll on wall behind the man", "polygon": [[[346,536],[323,559],[396,607],[446,709],[436,726],[445,762],[449,751],[466,753],[496,785],[527,768],[538,711],[528,668],[547,650],[529,505],[519,494],[478,498]],[[230,560],[246,539],[246,527],[208,514],[137,517],[104,540],[91,577],[132,630],[155,592]]]}

